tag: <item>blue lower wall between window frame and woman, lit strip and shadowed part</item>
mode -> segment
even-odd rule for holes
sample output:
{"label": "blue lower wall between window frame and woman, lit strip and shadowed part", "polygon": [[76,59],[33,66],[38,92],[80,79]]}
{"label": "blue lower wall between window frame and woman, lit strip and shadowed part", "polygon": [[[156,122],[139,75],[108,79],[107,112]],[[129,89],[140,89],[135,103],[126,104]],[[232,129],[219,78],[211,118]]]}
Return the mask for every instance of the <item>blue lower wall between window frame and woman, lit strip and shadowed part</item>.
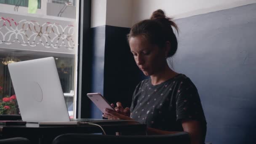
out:
{"label": "blue lower wall between window frame and woman, lit strip and shadowed part", "polygon": [[[130,28],[99,26],[92,35],[92,88],[110,103],[122,102],[130,107],[133,91],[143,78],[130,52],[126,35]],[[91,104],[91,118],[102,118],[101,111]]]}

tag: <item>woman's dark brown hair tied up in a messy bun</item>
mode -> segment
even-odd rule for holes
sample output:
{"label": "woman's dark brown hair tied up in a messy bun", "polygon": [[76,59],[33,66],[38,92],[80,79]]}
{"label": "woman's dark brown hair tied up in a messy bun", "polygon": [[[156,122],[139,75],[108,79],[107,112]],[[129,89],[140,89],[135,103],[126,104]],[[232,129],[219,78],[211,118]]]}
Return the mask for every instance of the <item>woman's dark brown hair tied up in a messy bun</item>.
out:
{"label": "woman's dark brown hair tied up in a messy bun", "polygon": [[163,10],[158,9],[152,13],[150,19],[139,21],[131,27],[131,31],[127,35],[128,41],[131,37],[143,35],[149,43],[155,44],[160,48],[163,48],[165,42],[169,41],[171,43],[171,50],[168,53],[168,57],[171,57],[176,53],[178,47],[177,38],[172,26],[179,34],[179,29],[172,19],[165,16]]}

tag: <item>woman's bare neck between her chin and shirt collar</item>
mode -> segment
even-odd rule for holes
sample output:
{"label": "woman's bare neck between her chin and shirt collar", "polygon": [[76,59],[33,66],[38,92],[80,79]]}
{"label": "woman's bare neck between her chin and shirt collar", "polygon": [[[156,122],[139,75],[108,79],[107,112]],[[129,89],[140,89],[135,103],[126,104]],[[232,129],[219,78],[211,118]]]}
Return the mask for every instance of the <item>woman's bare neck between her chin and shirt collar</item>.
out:
{"label": "woman's bare neck between her chin and shirt collar", "polygon": [[151,84],[152,85],[159,85],[160,83],[165,82],[166,80],[169,80],[172,77],[175,77],[178,75],[177,72],[174,72],[168,65],[166,65],[163,70],[160,70],[157,72],[157,74],[150,75],[151,78]]}

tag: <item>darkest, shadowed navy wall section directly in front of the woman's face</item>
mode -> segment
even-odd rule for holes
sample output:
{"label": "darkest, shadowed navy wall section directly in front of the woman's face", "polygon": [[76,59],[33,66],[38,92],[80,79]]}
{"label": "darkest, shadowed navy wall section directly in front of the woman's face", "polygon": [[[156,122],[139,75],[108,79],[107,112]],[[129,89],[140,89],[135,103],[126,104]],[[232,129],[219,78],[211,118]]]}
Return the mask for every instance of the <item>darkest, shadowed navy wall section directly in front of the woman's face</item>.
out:
{"label": "darkest, shadowed navy wall section directly in front of the woman's face", "polygon": [[131,106],[133,91],[143,75],[127,42],[129,32],[130,28],[106,26],[104,96],[124,107]]}

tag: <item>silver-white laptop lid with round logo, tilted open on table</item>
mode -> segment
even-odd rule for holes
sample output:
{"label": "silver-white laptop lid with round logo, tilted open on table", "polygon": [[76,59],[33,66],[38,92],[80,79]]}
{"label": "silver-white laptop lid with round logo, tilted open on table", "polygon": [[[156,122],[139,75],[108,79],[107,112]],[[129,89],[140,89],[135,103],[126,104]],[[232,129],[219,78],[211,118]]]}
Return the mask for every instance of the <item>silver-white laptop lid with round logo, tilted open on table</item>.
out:
{"label": "silver-white laptop lid with round logo, tilted open on table", "polygon": [[53,57],[8,64],[23,121],[70,121]]}

